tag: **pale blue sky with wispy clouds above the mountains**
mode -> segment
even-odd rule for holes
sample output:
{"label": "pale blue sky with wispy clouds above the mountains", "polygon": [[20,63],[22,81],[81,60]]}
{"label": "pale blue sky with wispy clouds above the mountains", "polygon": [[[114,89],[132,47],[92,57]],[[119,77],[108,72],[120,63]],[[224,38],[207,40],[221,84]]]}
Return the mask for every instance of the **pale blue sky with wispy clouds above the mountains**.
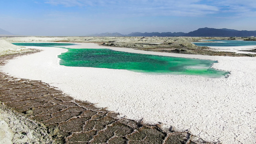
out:
{"label": "pale blue sky with wispy clouds above the mountains", "polygon": [[256,30],[256,0],[1,0],[0,28],[26,36]]}

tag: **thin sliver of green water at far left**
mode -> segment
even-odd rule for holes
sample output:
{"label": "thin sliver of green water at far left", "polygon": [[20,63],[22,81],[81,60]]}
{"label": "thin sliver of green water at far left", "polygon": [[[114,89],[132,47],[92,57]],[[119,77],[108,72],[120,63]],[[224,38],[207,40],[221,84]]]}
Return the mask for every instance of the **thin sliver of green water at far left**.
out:
{"label": "thin sliver of green water at far left", "polygon": [[75,44],[69,43],[12,43],[16,46],[34,46],[34,47],[56,47],[56,46],[71,46]]}

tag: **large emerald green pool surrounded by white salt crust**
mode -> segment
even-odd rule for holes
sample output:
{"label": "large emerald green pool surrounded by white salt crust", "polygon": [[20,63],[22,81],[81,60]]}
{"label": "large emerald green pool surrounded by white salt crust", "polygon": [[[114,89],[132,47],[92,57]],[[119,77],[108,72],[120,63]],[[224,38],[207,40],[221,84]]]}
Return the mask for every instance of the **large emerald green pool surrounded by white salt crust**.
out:
{"label": "large emerald green pool surrounded by white salt crust", "polygon": [[229,72],[210,68],[213,60],[185,59],[114,51],[110,49],[68,49],[58,56],[60,64],[73,67],[123,69],[134,72],[224,77]]}

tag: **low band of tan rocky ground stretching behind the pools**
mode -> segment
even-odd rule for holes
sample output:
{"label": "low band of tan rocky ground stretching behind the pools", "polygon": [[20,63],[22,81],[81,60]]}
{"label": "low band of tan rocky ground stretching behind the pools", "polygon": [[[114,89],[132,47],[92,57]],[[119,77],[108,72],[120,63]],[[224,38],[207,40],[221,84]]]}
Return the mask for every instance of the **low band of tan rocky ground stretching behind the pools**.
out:
{"label": "low band of tan rocky ground stretching behind the pools", "polygon": [[[246,37],[247,38],[247,37]],[[103,46],[134,48],[146,51],[170,52],[181,54],[256,57],[256,54],[241,54],[227,51],[215,51],[208,47],[199,47],[192,42],[204,42],[202,39],[246,39],[243,37],[3,37],[8,42],[74,42],[97,43]]]}

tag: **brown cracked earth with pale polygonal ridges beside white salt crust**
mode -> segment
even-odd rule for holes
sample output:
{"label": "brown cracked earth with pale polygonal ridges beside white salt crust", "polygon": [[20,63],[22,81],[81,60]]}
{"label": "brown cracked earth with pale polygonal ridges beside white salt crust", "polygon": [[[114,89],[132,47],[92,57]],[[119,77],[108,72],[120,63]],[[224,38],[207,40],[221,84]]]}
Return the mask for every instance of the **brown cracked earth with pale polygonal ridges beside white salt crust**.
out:
{"label": "brown cracked earth with pale polygonal ridges beside white salt crust", "polygon": [[[0,64],[17,55],[0,57]],[[0,72],[0,102],[45,125],[54,144],[213,144],[190,132],[119,118],[118,113],[73,99],[41,81]]]}

